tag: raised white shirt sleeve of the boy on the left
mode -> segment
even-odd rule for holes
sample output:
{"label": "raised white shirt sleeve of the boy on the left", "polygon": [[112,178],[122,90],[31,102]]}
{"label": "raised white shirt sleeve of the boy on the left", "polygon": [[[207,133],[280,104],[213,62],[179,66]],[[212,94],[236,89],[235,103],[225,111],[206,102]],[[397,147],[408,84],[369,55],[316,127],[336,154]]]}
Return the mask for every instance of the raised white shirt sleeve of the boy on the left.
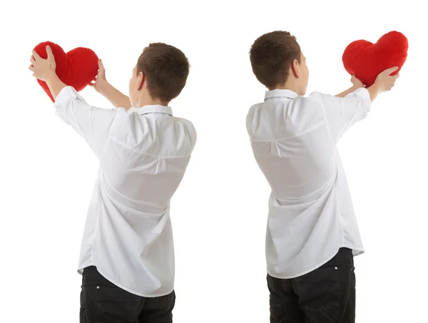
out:
{"label": "raised white shirt sleeve of the boy on the left", "polygon": [[100,158],[118,110],[90,106],[71,86],[66,86],[58,93],[54,106],[56,115],[71,125]]}

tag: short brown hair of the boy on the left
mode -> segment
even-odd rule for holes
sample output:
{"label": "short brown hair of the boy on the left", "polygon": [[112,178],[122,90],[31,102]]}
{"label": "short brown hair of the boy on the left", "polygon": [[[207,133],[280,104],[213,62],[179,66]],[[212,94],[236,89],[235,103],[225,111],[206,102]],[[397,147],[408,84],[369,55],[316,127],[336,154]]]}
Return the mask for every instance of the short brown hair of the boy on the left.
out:
{"label": "short brown hair of the boy on the left", "polygon": [[137,75],[147,78],[148,92],[152,98],[171,101],[183,90],[190,70],[183,51],[166,43],[151,43],[138,58]]}

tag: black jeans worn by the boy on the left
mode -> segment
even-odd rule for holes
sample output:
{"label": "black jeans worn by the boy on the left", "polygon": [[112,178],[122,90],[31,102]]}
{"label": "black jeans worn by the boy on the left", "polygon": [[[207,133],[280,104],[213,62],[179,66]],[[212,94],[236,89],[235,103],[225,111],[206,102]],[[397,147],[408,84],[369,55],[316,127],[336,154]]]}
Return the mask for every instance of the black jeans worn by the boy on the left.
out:
{"label": "black jeans worn by the boy on the left", "polygon": [[112,284],[96,270],[83,270],[81,323],[171,323],[175,292],[140,297]]}

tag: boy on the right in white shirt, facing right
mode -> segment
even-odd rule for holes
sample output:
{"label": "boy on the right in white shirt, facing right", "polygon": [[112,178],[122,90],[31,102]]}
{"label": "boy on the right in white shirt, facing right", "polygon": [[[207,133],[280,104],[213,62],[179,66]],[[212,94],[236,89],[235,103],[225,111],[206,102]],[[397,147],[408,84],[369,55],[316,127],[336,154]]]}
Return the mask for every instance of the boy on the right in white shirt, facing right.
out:
{"label": "boy on the right in white shirt, facing right", "polygon": [[250,108],[247,130],[270,184],[266,235],[271,323],[355,322],[353,257],[364,252],[336,144],[394,86],[397,68],[365,88],[304,97],[309,71],[286,31],[260,36],[250,48],[264,103]]}

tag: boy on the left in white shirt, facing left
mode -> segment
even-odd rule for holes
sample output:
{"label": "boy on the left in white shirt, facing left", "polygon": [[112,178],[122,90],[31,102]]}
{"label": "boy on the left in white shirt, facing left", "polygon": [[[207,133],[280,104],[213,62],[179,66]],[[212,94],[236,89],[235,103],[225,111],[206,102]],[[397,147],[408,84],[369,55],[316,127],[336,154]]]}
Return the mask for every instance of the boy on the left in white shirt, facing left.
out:
{"label": "boy on the left in white shirt, facing left", "polygon": [[81,245],[81,323],[172,322],[175,304],[170,199],[196,142],[190,121],[169,102],[183,90],[188,58],[165,43],[144,48],[129,97],[106,81],[98,62],[92,86],[116,108],[88,105],[56,76],[48,57],[31,56],[33,76],[56,98],[58,116],[100,160]]}

